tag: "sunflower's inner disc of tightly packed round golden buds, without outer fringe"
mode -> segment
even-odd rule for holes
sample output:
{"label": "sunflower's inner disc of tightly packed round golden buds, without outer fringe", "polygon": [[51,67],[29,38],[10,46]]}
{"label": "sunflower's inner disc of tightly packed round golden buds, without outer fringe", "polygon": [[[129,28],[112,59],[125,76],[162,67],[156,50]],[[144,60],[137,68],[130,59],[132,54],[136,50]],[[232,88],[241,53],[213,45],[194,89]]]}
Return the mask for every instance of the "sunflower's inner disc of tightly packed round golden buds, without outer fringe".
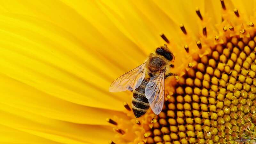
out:
{"label": "sunflower's inner disc of tightly packed round golden buds, without outer fringe", "polygon": [[147,143],[225,143],[256,138],[256,37],[232,37],[180,77]]}

